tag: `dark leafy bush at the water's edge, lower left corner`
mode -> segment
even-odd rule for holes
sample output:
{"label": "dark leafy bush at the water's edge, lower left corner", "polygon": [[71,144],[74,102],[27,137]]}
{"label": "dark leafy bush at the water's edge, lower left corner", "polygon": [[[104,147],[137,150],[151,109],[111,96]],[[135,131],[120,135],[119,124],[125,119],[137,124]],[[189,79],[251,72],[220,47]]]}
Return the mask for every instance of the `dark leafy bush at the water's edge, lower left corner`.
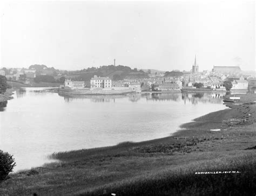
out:
{"label": "dark leafy bush at the water's edge, lower left corner", "polygon": [[0,180],[4,180],[15,166],[16,163],[12,155],[0,150]]}

